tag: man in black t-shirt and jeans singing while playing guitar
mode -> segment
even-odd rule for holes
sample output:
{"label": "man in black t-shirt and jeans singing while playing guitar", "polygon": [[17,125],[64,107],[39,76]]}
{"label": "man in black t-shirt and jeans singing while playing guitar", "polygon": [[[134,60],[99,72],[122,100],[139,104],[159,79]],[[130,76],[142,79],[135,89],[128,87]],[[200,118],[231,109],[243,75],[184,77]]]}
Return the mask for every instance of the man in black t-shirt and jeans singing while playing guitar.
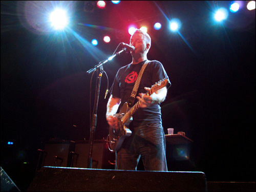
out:
{"label": "man in black t-shirt and jeans singing while playing guitar", "polygon": [[[167,170],[165,157],[165,136],[161,120],[160,103],[164,101],[167,89],[170,87],[168,76],[157,61],[148,61],[147,52],[151,47],[151,37],[136,30],[131,36],[130,46],[132,63],[120,68],[115,76],[113,90],[107,104],[106,120],[111,129],[118,132],[121,120],[115,114],[119,106],[123,106],[130,98],[135,81],[145,62],[147,66],[142,75],[138,95],[135,102],[139,102],[137,111],[132,111],[133,120],[129,124],[132,134],[122,141],[116,152],[116,169],[136,170],[140,157],[145,170]],[[161,79],[166,79],[164,87],[153,93],[150,88]]]}

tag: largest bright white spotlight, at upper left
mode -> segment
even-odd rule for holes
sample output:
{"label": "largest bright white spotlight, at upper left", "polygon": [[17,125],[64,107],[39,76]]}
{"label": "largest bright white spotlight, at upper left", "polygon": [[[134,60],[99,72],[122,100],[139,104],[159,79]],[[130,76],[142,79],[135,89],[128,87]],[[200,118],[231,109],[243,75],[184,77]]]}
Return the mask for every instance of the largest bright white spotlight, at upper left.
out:
{"label": "largest bright white spotlight, at upper left", "polygon": [[55,9],[50,14],[50,21],[56,30],[64,29],[69,24],[69,18],[63,9]]}

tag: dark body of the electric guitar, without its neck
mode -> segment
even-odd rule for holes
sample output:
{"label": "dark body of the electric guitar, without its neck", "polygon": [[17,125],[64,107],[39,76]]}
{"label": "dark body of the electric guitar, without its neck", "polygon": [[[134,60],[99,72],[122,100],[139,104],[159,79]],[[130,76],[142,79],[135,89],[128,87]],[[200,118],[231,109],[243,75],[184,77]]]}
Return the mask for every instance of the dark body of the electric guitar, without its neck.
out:
{"label": "dark body of the electric guitar, without its neck", "polygon": [[120,109],[120,113],[115,114],[116,118],[118,119],[118,130],[114,129],[113,127],[109,128],[110,149],[112,151],[118,151],[123,143],[123,140],[132,134],[131,130],[127,127],[132,119],[129,119],[124,123],[122,122],[122,117],[128,110],[128,104],[125,102]]}

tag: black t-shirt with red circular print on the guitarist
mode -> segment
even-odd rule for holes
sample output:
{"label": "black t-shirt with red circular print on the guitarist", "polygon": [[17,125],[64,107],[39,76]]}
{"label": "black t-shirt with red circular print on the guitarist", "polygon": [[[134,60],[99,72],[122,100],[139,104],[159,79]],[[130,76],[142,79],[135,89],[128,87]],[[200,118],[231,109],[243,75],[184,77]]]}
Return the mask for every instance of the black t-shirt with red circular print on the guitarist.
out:
{"label": "black t-shirt with red circular print on the guitarist", "polygon": [[[138,64],[129,64],[120,68],[115,76],[113,83],[113,90],[111,94],[114,97],[121,98],[119,109],[123,103],[127,102],[131,96],[134,83],[139,75],[140,69],[145,61]],[[140,86],[137,92],[146,93],[144,87],[151,88],[156,82],[168,78],[163,65],[157,60],[148,62],[144,73],[142,75]],[[170,87],[168,80],[167,89]],[[134,104],[138,100],[136,99]],[[139,108],[133,115],[133,125],[138,126],[140,124],[147,124],[152,122],[161,122],[161,108],[160,104],[154,104],[147,108]]]}

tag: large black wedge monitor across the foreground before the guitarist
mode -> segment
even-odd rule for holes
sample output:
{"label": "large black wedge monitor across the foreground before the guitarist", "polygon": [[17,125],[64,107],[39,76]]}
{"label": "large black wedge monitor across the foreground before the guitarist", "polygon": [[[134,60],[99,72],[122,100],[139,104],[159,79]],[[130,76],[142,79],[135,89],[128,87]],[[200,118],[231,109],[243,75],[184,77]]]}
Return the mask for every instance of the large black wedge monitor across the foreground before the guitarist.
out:
{"label": "large black wedge monitor across the foreground before the guitarist", "polygon": [[207,191],[202,172],[42,167],[27,191]]}

